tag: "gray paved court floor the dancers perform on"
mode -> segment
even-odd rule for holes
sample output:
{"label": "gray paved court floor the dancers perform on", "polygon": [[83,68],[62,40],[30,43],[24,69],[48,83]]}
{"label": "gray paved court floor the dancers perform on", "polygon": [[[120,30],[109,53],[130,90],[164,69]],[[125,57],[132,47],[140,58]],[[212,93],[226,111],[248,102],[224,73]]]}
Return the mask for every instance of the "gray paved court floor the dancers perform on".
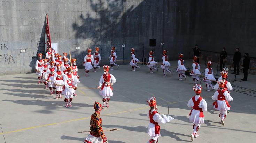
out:
{"label": "gray paved court floor the dancers perform on", "polygon": [[[170,61],[177,67],[177,61]],[[200,71],[204,71],[204,62]],[[119,131],[105,132],[109,143],[146,143],[149,119],[146,114],[149,106],[146,100],[157,98],[158,112],[167,114],[175,120],[160,124],[159,143],[191,142],[190,134],[193,124],[189,122],[188,100],[195,96],[193,79],[178,80],[178,74],[164,77],[162,70],[149,73],[144,65],[131,71],[130,65],[121,65],[119,69],[110,70],[116,78],[113,85],[114,96],[110,98],[110,108],[101,112],[103,129],[118,128]],[[188,67],[188,61],[185,61]],[[190,68],[192,66],[190,65]],[[216,63],[212,66],[216,75]],[[232,72],[232,71],[231,71]],[[230,73],[231,73],[230,72]],[[103,68],[85,77],[84,69],[79,69],[81,83],[78,87],[96,87],[103,74]],[[204,74],[204,73],[202,73]],[[218,75],[220,75],[218,71]],[[216,76],[219,77],[219,76]],[[234,74],[229,74],[230,80]],[[243,78],[243,73],[236,80]],[[256,76],[249,74],[248,81],[231,82],[234,90],[230,102],[231,110],[225,119],[225,126],[219,121],[218,111],[212,109],[211,96],[215,91],[206,91],[202,83],[201,96],[207,101],[208,110],[204,112],[204,124],[199,129],[197,143],[241,143],[255,142],[256,139]],[[0,143],[82,143],[90,127],[90,116],[94,112],[94,101],[102,103],[99,89],[79,88],[78,96],[73,98],[72,107],[64,106],[64,98],[55,99],[49,89],[38,84],[37,74],[18,74],[0,77]],[[249,90],[248,90],[249,89]]]}

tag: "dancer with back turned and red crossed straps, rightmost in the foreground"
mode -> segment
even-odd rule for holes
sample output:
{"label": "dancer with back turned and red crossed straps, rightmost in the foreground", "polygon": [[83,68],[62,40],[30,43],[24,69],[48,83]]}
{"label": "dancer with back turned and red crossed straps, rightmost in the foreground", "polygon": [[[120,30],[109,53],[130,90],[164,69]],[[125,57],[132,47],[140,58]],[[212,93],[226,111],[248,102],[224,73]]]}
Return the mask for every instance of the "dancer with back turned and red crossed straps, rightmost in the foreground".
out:
{"label": "dancer with back turned and red crossed straps, rightmost in the foreground", "polygon": [[233,98],[230,96],[228,91],[224,88],[225,86],[225,80],[219,80],[219,90],[215,91],[214,95],[211,97],[212,100],[217,100],[213,103],[214,109],[219,111],[219,117],[220,117],[220,122],[224,126],[224,119],[226,118],[227,115],[227,110],[230,110],[230,105],[229,101],[232,101]]}

